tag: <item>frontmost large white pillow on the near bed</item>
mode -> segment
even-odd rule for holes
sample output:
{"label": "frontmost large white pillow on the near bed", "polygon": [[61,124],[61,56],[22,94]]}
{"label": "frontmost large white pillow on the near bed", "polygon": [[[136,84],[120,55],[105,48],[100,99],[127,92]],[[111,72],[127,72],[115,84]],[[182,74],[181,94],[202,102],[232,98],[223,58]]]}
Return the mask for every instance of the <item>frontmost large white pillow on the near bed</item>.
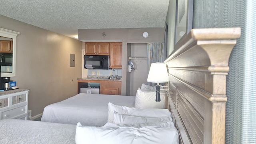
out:
{"label": "frontmost large white pillow on the near bed", "polygon": [[102,128],[76,125],[76,144],[178,144],[176,128]]}

